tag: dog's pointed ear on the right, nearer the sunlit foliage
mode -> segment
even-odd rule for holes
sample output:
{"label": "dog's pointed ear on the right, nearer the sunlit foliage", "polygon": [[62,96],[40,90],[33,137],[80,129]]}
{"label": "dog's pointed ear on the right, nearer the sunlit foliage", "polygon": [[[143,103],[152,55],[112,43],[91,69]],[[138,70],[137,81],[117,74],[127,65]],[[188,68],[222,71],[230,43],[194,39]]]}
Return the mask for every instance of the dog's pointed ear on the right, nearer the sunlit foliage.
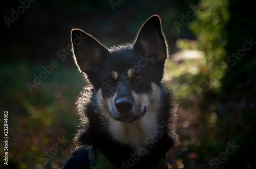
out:
{"label": "dog's pointed ear on the right, nearer the sunlit foliage", "polygon": [[133,50],[153,62],[168,58],[167,43],[162,32],[161,20],[154,15],[141,26]]}

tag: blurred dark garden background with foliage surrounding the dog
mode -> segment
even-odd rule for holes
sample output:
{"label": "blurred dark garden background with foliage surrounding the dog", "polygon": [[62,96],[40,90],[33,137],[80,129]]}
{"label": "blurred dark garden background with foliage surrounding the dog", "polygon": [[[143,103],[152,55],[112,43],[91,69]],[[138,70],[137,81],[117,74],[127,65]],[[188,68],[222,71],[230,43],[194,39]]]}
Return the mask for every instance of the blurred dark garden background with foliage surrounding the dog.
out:
{"label": "blurred dark garden background with foliage surrounding the dog", "polygon": [[252,1],[6,1],[1,5],[0,123],[8,165],[58,168],[75,147],[75,101],[87,82],[73,63],[77,27],[108,47],[132,42],[159,14],[166,80],[180,104],[181,146],[169,168],[256,168],[256,22]]}

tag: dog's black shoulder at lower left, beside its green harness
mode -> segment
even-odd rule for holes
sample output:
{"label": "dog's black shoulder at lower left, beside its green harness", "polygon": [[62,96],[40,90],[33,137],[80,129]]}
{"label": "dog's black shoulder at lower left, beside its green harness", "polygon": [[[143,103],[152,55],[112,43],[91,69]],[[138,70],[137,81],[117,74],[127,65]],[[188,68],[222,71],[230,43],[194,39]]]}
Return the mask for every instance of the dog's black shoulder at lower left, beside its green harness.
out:
{"label": "dog's black shoulder at lower left, beside its green harness", "polygon": [[89,148],[87,146],[78,147],[69,156],[63,169],[77,168],[84,169],[89,166]]}

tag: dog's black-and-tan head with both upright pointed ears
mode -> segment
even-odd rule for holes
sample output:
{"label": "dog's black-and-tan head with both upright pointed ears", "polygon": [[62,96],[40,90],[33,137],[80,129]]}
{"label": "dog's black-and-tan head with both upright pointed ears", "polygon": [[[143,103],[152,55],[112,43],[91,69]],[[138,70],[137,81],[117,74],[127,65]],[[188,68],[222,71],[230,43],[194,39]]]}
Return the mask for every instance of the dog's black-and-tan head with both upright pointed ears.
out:
{"label": "dog's black-and-tan head with both upright pointed ears", "polygon": [[158,16],[141,26],[133,44],[108,49],[78,29],[71,40],[74,60],[92,83],[103,116],[132,123],[157,111],[168,57]]}

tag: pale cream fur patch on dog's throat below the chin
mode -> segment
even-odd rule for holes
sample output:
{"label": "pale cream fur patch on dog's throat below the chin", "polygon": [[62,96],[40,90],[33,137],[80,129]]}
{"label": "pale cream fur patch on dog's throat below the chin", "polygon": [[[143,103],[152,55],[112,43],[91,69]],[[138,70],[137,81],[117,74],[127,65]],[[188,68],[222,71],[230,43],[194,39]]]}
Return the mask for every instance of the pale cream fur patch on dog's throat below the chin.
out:
{"label": "pale cream fur patch on dog's throat below the chin", "polygon": [[131,146],[134,152],[139,153],[140,156],[149,154],[148,143],[155,143],[158,140],[155,137],[161,131],[157,131],[159,126],[156,117],[154,117],[156,115],[153,113],[151,115],[151,112],[146,115],[148,116],[144,116],[133,123],[113,120],[108,125],[108,132],[113,142]]}

